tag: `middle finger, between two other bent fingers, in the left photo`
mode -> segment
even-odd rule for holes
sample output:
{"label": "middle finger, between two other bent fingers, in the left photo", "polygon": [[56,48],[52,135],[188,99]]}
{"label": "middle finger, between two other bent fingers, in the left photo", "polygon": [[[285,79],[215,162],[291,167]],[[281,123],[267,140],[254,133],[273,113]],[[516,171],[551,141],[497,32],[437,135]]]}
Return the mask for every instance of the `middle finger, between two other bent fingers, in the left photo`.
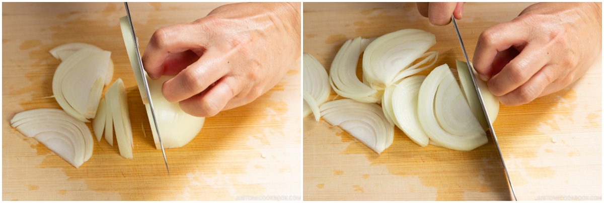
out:
{"label": "middle finger, between two other bent fingers, in the left photo", "polygon": [[228,73],[223,55],[206,52],[198,61],[176,74],[162,85],[162,94],[168,102],[180,102],[204,91]]}

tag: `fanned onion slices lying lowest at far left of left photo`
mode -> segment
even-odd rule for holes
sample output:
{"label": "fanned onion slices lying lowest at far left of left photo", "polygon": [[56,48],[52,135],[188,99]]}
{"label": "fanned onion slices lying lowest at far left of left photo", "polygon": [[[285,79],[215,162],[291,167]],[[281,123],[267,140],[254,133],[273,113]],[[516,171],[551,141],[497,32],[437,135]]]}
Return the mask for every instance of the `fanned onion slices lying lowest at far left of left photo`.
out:
{"label": "fanned onion slices lying lowest at far left of left photo", "polygon": [[79,168],[92,156],[90,130],[82,121],[60,109],[33,109],[14,115],[11,126],[34,138],[49,150]]}

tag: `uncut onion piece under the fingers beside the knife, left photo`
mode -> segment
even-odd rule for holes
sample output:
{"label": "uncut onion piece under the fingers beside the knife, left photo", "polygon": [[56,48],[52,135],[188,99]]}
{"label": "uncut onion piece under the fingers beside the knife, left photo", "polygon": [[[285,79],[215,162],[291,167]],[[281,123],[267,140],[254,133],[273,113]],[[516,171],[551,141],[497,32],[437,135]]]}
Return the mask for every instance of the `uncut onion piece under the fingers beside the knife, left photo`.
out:
{"label": "uncut onion piece under the fingers beside the knife, left photo", "polygon": [[[162,76],[157,80],[151,80],[147,76],[153,108],[155,110],[155,118],[157,118],[159,133],[161,133],[161,142],[164,144],[164,148],[184,146],[198,135],[202,127],[204,127],[205,122],[204,117],[193,117],[182,111],[178,102],[170,103],[168,100],[165,100],[164,95],[161,93],[161,86],[165,81],[172,79],[172,77],[174,76]],[[155,147],[161,149],[149,104],[145,104],[145,108],[147,109],[147,117],[151,125]]]}

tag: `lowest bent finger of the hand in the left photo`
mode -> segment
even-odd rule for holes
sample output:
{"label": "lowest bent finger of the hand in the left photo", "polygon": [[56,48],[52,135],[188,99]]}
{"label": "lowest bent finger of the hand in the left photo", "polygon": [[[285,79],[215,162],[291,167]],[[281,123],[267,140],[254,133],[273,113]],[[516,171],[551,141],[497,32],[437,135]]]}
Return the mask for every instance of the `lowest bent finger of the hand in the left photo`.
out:
{"label": "lowest bent finger of the hand in the left photo", "polygon": [[242,91],[243,86],[244,83],[234,77],[223,77],[207,91],[183,100],[179,105],[187,114],[196,117],[212,117],[222,110],[227,110],[225,106],[234,102],[231,99]]}

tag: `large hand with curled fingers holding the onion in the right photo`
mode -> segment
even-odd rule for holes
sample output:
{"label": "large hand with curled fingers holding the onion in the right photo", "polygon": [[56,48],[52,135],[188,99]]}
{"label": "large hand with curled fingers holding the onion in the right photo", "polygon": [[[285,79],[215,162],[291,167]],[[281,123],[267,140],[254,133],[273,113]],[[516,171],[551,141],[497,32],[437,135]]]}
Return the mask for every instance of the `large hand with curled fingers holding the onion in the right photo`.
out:
{"label": "large hand with curled fingers holding the onion in the right photo", "polygon": [[539,3],[480,34],[474,67],[504,105],[570,85],[602,51],[601,3]]}

